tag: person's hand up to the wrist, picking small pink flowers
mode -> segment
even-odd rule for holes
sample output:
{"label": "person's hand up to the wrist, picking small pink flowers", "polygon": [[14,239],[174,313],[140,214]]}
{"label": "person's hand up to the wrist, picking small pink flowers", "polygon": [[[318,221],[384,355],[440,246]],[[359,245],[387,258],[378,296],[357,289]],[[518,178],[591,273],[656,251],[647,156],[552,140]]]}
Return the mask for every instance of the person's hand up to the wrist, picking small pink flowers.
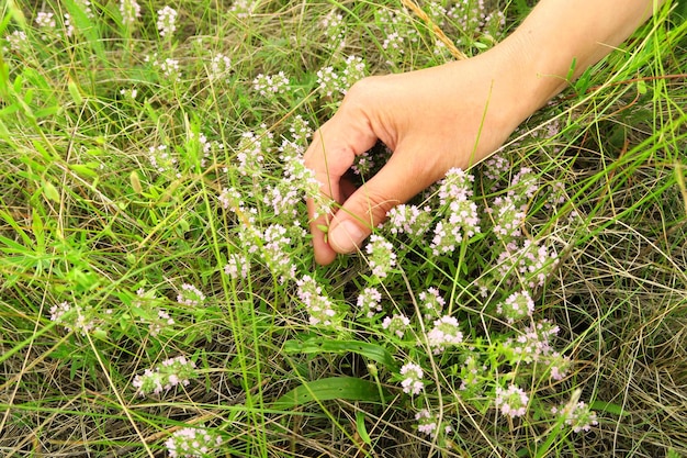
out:
{"label": "person's hand up to the wrist, picking small pink flowers", "polygon": [[[505,60],[485,53],[425,70],[365,78],[350,89],[305,153],[320,191],[341,205],[311,222],[318,264],[354,252],[390,209],[451,167],[465,169],[493,153],[537,108],[520,103],[516,67],[499,70]],[[342,176],[378,139],[393,152],[391,159],[356,190]],[[312,200],[308,211],[313,219]]]}

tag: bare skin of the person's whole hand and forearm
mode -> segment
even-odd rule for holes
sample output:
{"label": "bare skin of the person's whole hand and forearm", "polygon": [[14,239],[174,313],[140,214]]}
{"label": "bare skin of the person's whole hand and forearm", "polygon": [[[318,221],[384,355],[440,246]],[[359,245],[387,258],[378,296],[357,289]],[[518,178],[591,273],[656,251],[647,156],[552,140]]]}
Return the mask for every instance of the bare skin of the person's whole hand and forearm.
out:
{"label": "bare skin of the person's whole hand and forearm", "polygon": [[[360,248],[386,212],[498,149],[515,129],[573,78],[622,43],[655,0],[541,0],[522,24],[470,59],[358,81],[315,133],[305,164],[340,206],[313,219],[315,260]],[[342,176],[382,141],[387,164],[359,189]],[[323,227],[327,227],[326,233]]]}

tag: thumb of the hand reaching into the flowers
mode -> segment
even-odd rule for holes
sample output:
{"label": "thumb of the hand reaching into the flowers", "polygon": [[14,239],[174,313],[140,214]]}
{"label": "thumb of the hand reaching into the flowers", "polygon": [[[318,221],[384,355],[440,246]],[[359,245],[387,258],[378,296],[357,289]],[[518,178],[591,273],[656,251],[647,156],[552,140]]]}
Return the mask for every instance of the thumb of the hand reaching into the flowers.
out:
{"label": "thumb of the hand reaching into the flowers", "polygon": [[406,160],[398,153],[358,188],[331,219],[328,243],[335,252],[347,254],[359,249],[392,208],[407,202],[433,181],[423,165]]}

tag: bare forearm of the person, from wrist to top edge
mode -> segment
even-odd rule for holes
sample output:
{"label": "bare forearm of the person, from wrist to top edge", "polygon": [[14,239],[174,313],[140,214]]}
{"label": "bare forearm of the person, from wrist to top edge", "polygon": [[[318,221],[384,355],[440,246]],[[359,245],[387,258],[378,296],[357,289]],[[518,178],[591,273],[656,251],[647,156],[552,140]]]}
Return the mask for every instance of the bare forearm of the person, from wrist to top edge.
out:
{"label": "bare forearm of the person, from wrist to top edge", "polygon": [[520,72],[529,111],[563,90],[646,21],[662,0],[541,0],[499,46]]}

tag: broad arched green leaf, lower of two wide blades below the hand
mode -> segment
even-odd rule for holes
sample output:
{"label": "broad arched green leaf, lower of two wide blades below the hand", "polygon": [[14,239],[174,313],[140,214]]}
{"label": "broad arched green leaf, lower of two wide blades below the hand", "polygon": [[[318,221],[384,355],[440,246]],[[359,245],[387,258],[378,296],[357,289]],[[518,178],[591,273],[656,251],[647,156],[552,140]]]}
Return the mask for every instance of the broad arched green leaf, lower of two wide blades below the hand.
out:
{"label": "broad arched green leaf, lower of two wide blades below the hand", "polygon": [[362,402],[382,401],[379,387],[371,381],[356,377],[330,377],[303,383],[274,401],[272,406],[277,410],[288,410],[308,402],[335,399]]}

